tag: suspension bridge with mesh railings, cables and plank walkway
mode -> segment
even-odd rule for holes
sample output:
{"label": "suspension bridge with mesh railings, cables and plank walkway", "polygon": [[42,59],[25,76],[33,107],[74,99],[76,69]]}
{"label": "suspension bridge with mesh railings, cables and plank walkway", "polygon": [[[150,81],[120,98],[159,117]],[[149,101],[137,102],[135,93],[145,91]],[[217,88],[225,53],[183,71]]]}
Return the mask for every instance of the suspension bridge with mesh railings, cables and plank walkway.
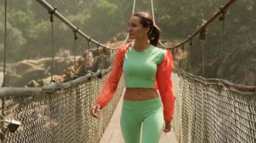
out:
{"label": "suspension bridge with mesh railings, cables and plank walkway", "polygon": [[[51,73],[51,83],[38,87],[5,86],[7,79],[5,79],[4,60],[3,72],[0,70],[0,81],[3,81],[3,86],[0,88],[1,142],[123,142],[118,124],[125,89],[123,77],[114,98],[100,111],[100,118],[94,119],[90,115],[90,107],[97,99],[111,67],[90,71],[84,76],[74,74],[69,81],[57,82],[54,76],[55,62],[58,61],[54,54],[56,44],[53,36],[54,18],[59,19],[73,31],[73,51],[77,50],[77,36],[86,38],[88,49],[91,44],[95,44],[96,51],[105,51],[108,55],[113,54],[119,46],[110,47],[100,43],[79,30],[56,7],[44,0],[36,1],[50,15],[53,52],[49,59],[51,64],[46,66],[43,73]],[[172,73],[174,95],[177,97],[172,132],[162,133],[160,142],[256,142],[256,87],[203,77],[207,27],[216,19],[224,23],[226,11],[232,8],[235,2],[235,0],[228,1],[184,42],[175,46],[167,46],[160,42],[159,47],[171,50],[174,57],[182,58],[185,55],[184,51],[195,45],[197,36],[199,36],[199,46],[203,49],[202,77],[185,72],[182,63],[176,64],[178,66]],[[152,1],[151,4],[154,17]],[[132,13],[134,10],[135,1]],[[222,42],[223,40],[222,37]],[[127,37],[123,40],[123,43],[125,42]],[[5,39],[5,50],[6,48]],[[75,67],[78,57],[74,55],[72,58]],[[86,61],[90,60],[90,56],[85,58],[88,58]]]}

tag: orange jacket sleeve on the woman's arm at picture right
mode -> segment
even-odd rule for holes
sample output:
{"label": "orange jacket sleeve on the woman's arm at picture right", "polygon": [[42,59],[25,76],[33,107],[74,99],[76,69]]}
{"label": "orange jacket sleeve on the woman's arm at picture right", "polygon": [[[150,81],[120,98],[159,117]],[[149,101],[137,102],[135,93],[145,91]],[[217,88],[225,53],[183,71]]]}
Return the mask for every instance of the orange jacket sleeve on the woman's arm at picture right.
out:
{"label": "orange jacket sleeve on the woman's arm at picture right", "polygon": [[156,82],[164,106],[164,121],[171,122],[176,97],[172,93],[171,73],[173,68],[172,53],[167,50],[156,71]]}

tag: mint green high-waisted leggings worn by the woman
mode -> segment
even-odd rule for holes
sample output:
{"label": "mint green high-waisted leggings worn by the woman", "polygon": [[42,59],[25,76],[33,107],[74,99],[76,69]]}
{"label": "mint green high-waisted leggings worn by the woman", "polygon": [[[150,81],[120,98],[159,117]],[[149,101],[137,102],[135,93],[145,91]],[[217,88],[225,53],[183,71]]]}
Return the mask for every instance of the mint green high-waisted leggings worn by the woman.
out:
{"label": "mint green high-waisted leggings worn by the woman", "polygon": [[146,101],[123,101],[121,131],[125,143],[158,143],[164,126],[160,98]]}

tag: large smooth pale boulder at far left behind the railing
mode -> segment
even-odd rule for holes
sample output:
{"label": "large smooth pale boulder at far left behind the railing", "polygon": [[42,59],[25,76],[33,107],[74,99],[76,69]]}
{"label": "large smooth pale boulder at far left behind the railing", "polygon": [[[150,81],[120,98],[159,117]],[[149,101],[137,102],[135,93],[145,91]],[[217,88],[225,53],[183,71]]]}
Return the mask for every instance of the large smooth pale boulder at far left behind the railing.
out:
{"label": "large smooth pale boulder at far left behind the railing", "polygon": [[5,85],[9,87],[24,87],[30,81],[45,79],[53,75],[63,75],[65,69],[72,66],[73,56],[69,58],[54,58],[53,72],[51,69],[51,58],[41,58],[38,60],[22,60],[8,67],[5,75]]}

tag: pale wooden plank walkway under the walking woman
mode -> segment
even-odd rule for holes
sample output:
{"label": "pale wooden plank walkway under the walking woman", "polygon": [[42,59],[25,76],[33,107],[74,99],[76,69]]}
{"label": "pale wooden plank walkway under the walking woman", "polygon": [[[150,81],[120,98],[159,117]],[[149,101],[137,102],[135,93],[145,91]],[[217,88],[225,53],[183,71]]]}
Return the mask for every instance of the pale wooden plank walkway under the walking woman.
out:
{"label": "pale wooden plank walkway under the walking woman", "polygon": [[[121,97],[119,103],[117,104],[117,108],[115,109],[113,116],[110,119],[110,122],[102,138],[100,139],[100,143],[125,143],[123,140],[123,136],[122,136],[121,128],[119,124],[122,103],[123,103],[123,97]],[[168,132],[167,134],[162,132],[160,143],[177,143],[177,142],[178,140],[174,134],[173,128],[171,132]]]}

